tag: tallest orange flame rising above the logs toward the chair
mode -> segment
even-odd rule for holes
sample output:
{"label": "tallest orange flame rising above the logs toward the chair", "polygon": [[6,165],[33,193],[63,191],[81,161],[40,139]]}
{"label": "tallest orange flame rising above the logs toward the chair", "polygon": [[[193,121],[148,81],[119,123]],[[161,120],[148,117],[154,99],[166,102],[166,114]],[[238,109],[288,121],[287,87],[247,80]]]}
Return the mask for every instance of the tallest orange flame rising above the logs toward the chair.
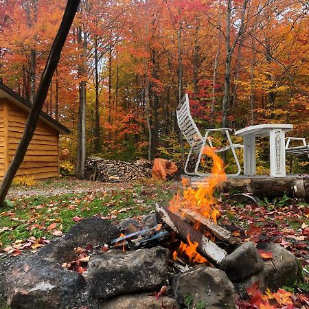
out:
{"label": "tallest orange flame rising above the logs toward the chair", "polygon": [[183,196],[176,194],[172,201],[170,201],[170,210],[178,211],[180,208],[196,209],[201,212],[207,219],[212,218],[214,222],[217,221],[219,211],[213,206],[216,205],[216,198],[214,198],[214,191],[216,187],[222,185],[227,180],[227,175],[223,169],[223,161],[216,155],[216,148],[205,146],[203,153],[211,157],[214,165],[211,169],[211,174],[204,179],[203,185],[198,185],[195,190],[187,183],[187,179],[183,179]]}

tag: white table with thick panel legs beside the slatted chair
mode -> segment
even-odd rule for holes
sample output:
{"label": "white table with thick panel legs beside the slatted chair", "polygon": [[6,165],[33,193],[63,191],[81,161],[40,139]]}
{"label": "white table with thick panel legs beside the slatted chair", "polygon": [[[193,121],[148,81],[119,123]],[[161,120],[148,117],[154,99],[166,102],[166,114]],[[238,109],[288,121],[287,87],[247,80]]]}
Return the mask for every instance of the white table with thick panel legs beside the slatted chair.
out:
{"label": "white table with thick panel legs beside the slatted chair", "polygon": [[271,176],[286,176],[285,134],[293,130],[293,124],[258,124],[236,131],[244,138],[244,175],[256,175],[255,137],[269,136],[269,161]]}

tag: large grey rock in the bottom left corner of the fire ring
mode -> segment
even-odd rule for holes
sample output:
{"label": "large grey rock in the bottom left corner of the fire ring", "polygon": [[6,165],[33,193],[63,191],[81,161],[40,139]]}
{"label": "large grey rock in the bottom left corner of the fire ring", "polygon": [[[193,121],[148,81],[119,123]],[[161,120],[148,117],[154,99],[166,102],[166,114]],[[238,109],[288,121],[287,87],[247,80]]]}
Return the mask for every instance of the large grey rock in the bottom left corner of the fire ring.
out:
{"label": "large grey rock in the bottom left corner of the fire ring", "polygon": [[5,275],[5,291],[12,308],[65,308],[86,284],[79,273],[36,256],[14,264]]}

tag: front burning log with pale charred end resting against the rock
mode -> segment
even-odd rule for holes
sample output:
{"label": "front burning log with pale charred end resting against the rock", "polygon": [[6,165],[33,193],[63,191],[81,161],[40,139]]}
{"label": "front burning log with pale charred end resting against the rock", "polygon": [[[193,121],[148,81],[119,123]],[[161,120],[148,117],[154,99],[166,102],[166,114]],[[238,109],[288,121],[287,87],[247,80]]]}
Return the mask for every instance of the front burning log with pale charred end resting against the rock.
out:
{"label": "front burning log with pale charred end resting against the rock", "polygon": [[161,220],[167,229],[177,233],[183,242],[187,243],[188,237],[191,242],[197,242],[198,247],[196,251],[212,263],[218,265],[227,256],[227,252],[224,249],[218,247],[199,231],[196,231],[192,225],[181,218],[180,214],[174,214],[172,211],[159,205],[156,205],[156,214],[157,220]]}

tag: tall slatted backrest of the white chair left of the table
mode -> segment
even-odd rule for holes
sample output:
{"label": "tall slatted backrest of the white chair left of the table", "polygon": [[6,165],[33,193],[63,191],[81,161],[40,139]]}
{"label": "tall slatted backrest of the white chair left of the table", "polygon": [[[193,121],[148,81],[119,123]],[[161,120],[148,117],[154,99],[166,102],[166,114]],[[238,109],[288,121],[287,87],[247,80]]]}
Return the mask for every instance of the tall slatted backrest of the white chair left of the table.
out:
{"label": "tall slatted backrest of the white chair left of the table", "polygon": [[183,133],[192,150],[198,154],[203,145],[203,137],[191,116],[187,93],[176,108],[176,116],[181,133]]}

